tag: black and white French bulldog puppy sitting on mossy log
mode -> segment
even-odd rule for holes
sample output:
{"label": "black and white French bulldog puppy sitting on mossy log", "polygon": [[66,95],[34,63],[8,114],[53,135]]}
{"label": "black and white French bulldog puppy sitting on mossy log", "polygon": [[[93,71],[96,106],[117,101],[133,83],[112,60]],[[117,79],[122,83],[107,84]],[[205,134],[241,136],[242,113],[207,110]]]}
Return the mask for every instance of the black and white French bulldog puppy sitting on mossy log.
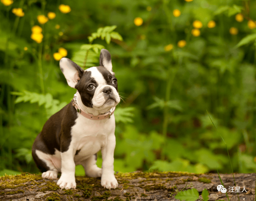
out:
{"label": "black and white French bulldog puppy sitting on mossy log", "polygon": [[[44,124],[32,147],[32,156],[42,177],[56,179],[60,188],[76,188],[75,166],[81,164],[86,176],[101,177],[107,189],[118,187],[114,176],[115,118],[120,102],[117,79],[108,50],[100,52],[100,66],[85,71],[67,58],[60,69],[68,85],[77,89],[74,99]],[[102,152],[102,168],[97,152]]]}

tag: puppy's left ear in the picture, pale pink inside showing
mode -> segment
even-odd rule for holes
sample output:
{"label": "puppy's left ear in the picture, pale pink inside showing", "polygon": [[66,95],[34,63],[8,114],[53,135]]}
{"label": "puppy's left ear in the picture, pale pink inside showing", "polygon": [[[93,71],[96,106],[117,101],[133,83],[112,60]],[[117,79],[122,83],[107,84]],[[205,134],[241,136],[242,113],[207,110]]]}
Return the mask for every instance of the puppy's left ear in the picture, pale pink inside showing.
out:
{"label": "puppy's left ear in the picture, pale pink inside showing", "polygon": [[60,70],[64,74],[68,85],[72,88],[75,88],[84,72],[79,65],[65,57],[60,59]]}

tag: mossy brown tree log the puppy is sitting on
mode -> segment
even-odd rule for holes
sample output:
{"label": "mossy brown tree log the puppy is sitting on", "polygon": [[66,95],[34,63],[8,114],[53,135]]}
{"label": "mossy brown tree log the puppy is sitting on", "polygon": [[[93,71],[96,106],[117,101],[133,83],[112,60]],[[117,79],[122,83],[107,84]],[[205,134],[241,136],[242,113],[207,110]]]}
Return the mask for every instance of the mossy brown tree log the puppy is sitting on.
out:
{"label": "mossy brown tree log the puppy is sitting on", "polygon": [[[41,175],[25,174],[0,177],[1,201],[176,201],[180,191],[195,188],[202,200],[202,191],[207,189],[209,201],[255,200],[255,173],[220,174],[227,194],[217,190],[221,185],[218,174],[193,174],[184,172],[117,173],[117,189],[104,189],[100,178],[76,177],[76,189],[61,190],[58,179],[42,179]],[[234,179],[236,185],[234,183]],[[230,192],[229,192],[230,191]],[[236,192],[237,191],[237,192]],[[242,192],[243,191],[243,192]],[[246,192],[247,191],[247,192]],[[228,196],[228,198],[227,198]]]}

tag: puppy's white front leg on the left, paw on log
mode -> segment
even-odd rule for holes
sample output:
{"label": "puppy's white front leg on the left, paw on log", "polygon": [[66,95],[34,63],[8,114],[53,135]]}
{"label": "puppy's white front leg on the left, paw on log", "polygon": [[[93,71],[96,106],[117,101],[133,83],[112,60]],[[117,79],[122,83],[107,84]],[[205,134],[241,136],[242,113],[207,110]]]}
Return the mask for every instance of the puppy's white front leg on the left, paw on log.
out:
{"label": "puppy's white front leg on the left, paw on log", "polygon": [[74,153],[72,146],[66,152],[61,152],[61,176],[57,182],[57,185],[61,189],[71,189],[76,188],[76,179],[75,179],[75,162],[74,162]]}

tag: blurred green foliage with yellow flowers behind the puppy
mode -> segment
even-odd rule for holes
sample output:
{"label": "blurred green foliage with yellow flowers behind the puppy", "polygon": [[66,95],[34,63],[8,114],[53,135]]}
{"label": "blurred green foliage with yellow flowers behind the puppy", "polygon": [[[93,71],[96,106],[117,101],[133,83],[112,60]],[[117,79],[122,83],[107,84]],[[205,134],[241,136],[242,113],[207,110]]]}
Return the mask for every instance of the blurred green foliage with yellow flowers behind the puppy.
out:
{"label": "blurred green foliage with yellow flowers behind the puppy", "polygon": [[58,60],[98,66],[102,48],[124,99],[115,171],[256,171],[255,10],[255,0],[1,0],[0,175],[38,172],[34,139],[76,92]]}

